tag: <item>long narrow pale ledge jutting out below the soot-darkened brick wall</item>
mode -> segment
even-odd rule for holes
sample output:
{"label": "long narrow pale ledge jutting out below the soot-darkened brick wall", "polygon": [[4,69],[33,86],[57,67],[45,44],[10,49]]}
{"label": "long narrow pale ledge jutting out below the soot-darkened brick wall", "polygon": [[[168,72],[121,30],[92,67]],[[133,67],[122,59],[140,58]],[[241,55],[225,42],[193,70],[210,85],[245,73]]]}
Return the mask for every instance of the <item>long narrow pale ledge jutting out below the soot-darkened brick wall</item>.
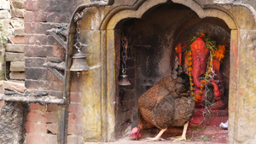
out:
{"label": "long narrow pale ledge jutting out below the soot-darkened brick wall", "polygon": [[37,95],[0,95],[0,100],[3,101],[22,101],[27,103],[42,103],[42,104],[64,104],[64,99],[55,98],[55,96],[45,95],[45,96],[37,96]]}

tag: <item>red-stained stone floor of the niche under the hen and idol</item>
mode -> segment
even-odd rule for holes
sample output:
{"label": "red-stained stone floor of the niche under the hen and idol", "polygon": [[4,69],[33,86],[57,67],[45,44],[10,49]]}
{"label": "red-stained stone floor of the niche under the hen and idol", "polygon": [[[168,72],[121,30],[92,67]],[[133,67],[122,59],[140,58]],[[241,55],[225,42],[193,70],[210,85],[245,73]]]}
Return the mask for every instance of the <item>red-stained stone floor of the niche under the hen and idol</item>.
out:
{"label": "red-stained stone floor of the niche under the hen and idol", "polygon": [[[207,114],[211,115],[208,117]],[[183,128],[168,129],[161,137],[165,141],[145,141],[146,137],[154,137],[159,130],[154,128],[150,130],[143,130],[143,138],[139,141],[131,140],[129,135],[119,139],[119,141],[110,142],[111,144],[223,144],[229,143],[228,130],[223,130],[219,127],[220,123],[225,123],[228,120],[228,110],[215,110],[205,112],[202,109],[196,109],[193,118],[189,124],[187,132],[188,141],[173,142],[168,141],[168,137],[178,136],[182,134]],[[128,131],[127,134],[130,132]]]}

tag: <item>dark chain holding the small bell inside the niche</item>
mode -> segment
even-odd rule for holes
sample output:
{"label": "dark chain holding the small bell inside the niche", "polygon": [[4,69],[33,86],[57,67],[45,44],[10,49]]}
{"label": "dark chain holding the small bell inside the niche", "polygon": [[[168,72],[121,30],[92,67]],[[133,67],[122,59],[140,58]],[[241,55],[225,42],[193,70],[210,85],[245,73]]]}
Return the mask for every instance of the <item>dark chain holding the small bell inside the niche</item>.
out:
{"label": "dark chain holding the small bell inside the niche", "polygon": [[128,40],[126,37],[121,38],[121,45],[122,45],[122,52],[121,52],[121,59],[122,59],[122,74],[125,75],[126,73],[126,60],[127,60],[127,48],[128,48]]}

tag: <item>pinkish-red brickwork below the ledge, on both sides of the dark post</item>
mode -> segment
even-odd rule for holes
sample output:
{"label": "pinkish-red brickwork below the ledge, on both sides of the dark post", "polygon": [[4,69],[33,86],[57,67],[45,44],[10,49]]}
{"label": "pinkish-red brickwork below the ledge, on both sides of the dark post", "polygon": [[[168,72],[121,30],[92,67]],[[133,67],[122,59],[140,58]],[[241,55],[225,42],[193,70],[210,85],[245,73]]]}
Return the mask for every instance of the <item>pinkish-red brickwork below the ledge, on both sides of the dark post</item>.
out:
{"label": "pinkish-red brickwork below the ledge, on both sides of the dark post", "polygon": [[[83,113],[81,95],[71,94],[69,105],[67,143],[83,143]],[[1,103],[0,103],[1,104]],[[26,122],[26,144],[56,143],[58,105],[30,104],[30,112]]]}

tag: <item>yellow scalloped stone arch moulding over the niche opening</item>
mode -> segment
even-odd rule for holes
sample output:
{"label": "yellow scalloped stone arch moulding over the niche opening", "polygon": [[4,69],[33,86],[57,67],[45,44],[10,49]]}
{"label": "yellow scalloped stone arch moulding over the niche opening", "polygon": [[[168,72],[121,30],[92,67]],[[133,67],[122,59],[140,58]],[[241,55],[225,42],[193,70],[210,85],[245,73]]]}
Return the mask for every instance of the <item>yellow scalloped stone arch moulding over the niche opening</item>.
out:
{"label": "yellow scalloped stone arch moulding over the niche opening", "polygon": [[[139,3],[140,2],[140,3]],[[138,1],[133,6],[120,6],[117,9],[113,9],[106,18],[102,21],[102,25],[100,27],[101,30],[113,30],[116,24],[120,20],[126,18],[140,18],[148,9],[153,8],[154,6],[160,3],[166,3],[166,0],[161,1]],[[216,17],[224,22],[230,27],[230,29],[237,29],[236,19],[230,12],[224,8],[218,6],[203,6],[201,3],[196,0],[186,1],[186,0],[172,0],[173,3],[180,3],[184,6],[188,7],[195,11],[196,14],[200,18],[205,17]]]}

